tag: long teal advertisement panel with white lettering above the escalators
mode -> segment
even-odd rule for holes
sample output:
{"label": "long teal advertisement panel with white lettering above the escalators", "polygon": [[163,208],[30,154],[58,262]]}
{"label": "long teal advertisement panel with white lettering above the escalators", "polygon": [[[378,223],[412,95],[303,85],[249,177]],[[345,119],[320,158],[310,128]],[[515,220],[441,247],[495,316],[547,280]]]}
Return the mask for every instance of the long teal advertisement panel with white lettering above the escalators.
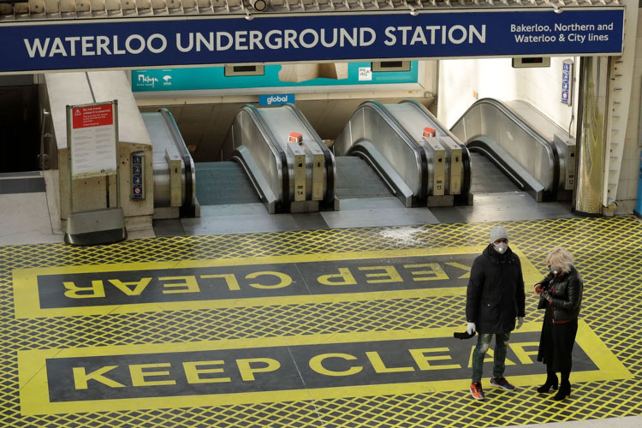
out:
{"label": "long teal advertisement panel with white lettering above the escalators", "polygon": [[416,84],[417,61],[409,71],[372,71],[370,62],[265,66],[260,76],[225,76],[225,67],[149,69],[132,71],[132,91],[193,91],[263,87]]}

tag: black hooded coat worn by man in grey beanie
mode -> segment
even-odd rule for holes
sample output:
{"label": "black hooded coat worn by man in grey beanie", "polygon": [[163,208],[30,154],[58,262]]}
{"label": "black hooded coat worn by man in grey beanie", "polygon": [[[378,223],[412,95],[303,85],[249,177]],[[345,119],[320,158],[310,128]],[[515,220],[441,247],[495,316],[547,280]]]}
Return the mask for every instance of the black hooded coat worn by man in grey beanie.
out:
{"label": "black hooded coat worn by man in grey beanie", "polygon": [[516,317],[524,316],[521,263],[510,248],[499,254],[490,244],[471,270],[466,295],[466,319],[479,333],[508,333]]}

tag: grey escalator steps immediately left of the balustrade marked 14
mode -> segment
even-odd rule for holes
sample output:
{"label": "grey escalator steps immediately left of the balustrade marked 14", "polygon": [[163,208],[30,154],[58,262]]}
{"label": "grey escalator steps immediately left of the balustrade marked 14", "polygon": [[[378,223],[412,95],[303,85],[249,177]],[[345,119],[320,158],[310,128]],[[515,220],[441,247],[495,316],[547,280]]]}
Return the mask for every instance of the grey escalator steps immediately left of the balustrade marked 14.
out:
{"label": "grey escalator steps immediately left of the balustrade marked 14", "polygon": [[241,165],[232,161],[196,163],[196,197],[201,205],[261,202]]}

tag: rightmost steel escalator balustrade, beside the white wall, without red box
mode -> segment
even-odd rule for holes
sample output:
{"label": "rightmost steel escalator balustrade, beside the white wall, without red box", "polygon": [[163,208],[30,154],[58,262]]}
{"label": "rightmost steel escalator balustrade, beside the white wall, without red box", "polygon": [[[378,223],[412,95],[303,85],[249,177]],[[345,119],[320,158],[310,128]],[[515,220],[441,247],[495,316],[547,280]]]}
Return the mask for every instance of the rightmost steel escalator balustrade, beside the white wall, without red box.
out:
{"label": "rightmost steel escalator balustrade, beside the white wall, without red box", "polygon": [[471,152],[473,193],[521,191],[537,202],[571,199],[575,140],[532,105],[484,98],[451,132]]}

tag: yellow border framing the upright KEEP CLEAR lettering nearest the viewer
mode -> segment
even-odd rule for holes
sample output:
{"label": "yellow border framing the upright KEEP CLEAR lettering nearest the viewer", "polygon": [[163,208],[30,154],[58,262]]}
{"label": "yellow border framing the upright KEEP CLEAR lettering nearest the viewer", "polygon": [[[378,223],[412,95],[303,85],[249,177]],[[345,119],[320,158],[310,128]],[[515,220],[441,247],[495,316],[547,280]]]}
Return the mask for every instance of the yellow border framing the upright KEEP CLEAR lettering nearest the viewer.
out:
{"label": "yellow border framing the upright KEEP CLEAR lettering nearest the viewer", "polygon": [[[396,395],[425,392],[456,391],[467,389],[469,379],[437,380],[429,382],[397,382],[334,388],[286,389],[282,391],[257,391],[250,393],[219,393],[207,395],[176,395],[144,398],[119,398],[107,400],[83,400],[50,402],[47,371],[48,359],[69,359],[78,357],[108,357],[119,355],[159,355],[177,352],[198,352],[210,350],[248,350],[311,344],[352,344],[374,341],[401,341],[404,339],[428,339],[452,337],[460,328],[427,328],[387,332],[359,332],[334,335],[299,335],[290,337],[266,337],[261,339],[230,339],[173,344],[147,344],[130,346],[101,346],[96,348],[61,348],[49,350],[28,350],[18,353],[21,409],[25,415],[51,413],[81,413],[97,411],[121,411],[136,409],[162,409],[171,402],[172,407],[248,404],[261,402],[282,402],[291,400],[324,400],[328,398],[361,397],[363,395]],[[539,332],[540,323],[526,323],[516,334]],[[584,350],[598,370],[573,373],[574,382],[630,379],[629,370],[609,351],[591,328],[580,321],[577,344]],[[474,342],[471,341],[471,346]],[[116,364],[117,361],[110,361]],[[150,377],[153,377],[150,375]],[[542,378],[537,375],[514,375],[510,377],[516,386],[537,384]],[[135,387],[128,387],[135,388]],[[152,388],[152,387],[147,387]]]}

